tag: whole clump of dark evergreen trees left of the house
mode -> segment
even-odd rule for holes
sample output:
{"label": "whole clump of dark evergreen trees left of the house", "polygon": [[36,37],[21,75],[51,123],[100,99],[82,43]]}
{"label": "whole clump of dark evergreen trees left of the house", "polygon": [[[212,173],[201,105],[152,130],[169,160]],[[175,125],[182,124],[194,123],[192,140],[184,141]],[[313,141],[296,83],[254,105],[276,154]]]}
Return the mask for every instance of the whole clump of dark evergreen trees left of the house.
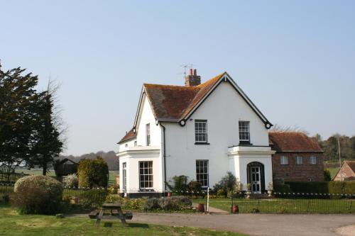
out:
{"label": "whole clump of dark evergreen trees left of the house", "polygon": [[21,165],[43,168],[59,157],[65,129],[55,109],[55,86],[37,91],[38,76],[0,64],[0,172]]}

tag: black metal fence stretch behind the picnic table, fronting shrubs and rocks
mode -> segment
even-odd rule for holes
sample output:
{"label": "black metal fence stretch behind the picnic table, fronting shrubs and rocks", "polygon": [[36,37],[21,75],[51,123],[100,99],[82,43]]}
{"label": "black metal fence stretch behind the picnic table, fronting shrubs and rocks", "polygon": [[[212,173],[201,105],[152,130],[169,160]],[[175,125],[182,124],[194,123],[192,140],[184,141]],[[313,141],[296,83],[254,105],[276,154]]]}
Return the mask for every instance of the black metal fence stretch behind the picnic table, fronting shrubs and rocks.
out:
{"label": "black metal fence stretch behind the picnic table, fronting shrubs and rocks", "polygon": [[[0,184],[0,199],[13,193],[13,185]],[[207,192],[129,191],[114,188],[65,188],[63,201],[85,209],[99,208],[103,203],[120,203],[124,210],[137,211],[204,211]]]}

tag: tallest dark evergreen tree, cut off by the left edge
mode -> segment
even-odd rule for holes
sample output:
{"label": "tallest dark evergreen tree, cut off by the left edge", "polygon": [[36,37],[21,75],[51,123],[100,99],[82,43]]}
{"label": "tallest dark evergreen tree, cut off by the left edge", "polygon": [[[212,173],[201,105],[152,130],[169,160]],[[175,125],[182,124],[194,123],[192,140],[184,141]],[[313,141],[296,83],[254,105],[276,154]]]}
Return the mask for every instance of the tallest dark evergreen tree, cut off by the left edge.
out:
{"label": "tallest dark evergreen tree, cut off by the left edge", "polygon": [[11,174],[31,157],[38,77],[20,67],[4,72],[0,64],[0,167]]}

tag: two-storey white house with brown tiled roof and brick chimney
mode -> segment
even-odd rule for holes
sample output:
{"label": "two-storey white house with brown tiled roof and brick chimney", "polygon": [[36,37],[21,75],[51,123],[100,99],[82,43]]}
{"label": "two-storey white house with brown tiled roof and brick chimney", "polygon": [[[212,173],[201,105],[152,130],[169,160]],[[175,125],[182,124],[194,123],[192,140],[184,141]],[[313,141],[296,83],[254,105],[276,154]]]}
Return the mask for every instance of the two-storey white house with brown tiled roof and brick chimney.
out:
{"label": "two-storey white house with brown tiled roof and brick chimney", "polygon": [[143,84],[133,128],[119,141],[121,189],[165,190],[185,175],[212,187],[227,172],[260,193],[273,181],[271,123],[226,72],[203,84]]}

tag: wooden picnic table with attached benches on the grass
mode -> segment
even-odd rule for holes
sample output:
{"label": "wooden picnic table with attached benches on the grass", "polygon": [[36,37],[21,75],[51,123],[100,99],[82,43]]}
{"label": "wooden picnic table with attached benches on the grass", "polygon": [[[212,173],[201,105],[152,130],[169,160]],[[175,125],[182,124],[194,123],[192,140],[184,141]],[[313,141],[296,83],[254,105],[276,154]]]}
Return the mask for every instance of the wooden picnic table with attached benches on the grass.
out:
{"label": "wooden picnic table with attached benches on the grass", "polygon": [[89,213],[90,219],[96,219],[95,225],[98,227],[101,220],[121,220],[123,226],[127,226],[126,220],[131,220],[133,215],[131,212],[123,213],[121,204],[104,203],[101,210],[94,210]]}

